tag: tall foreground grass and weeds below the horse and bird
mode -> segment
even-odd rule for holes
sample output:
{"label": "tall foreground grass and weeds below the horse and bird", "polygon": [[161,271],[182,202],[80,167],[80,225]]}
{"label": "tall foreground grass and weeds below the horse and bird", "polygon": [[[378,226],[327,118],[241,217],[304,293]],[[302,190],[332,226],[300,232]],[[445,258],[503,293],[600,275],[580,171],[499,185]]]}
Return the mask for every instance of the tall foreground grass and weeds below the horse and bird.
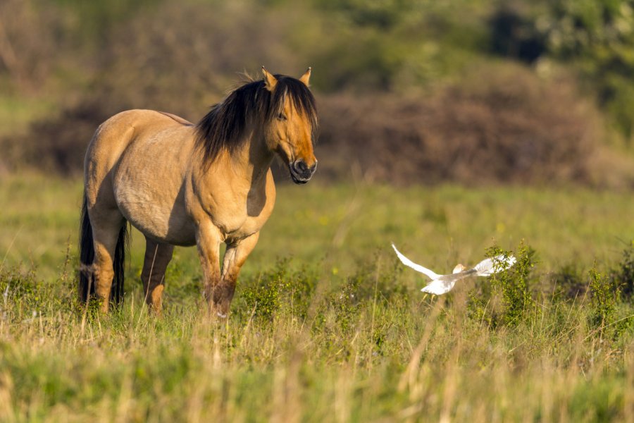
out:
{"label": "tall foreground grass and weeds below the horse and bird", "polygon": [[[423,298],[390,266],[367,264],[328,288],[328,275],[285,269],[246,278],[220,322],[206,317],[197,295],[168,303],[155,319],[139,290],[111,315],[86,316],[70,271],[56,284],[4,272],[0,419],[633,417],[633,309],[614,302],[597,322],[603,306],[590,300],[592,283],[589,296],[543,295],[513,321],[491,324],[468,305],[479,295],[473,281],[446,298]],[[487,307],[496,301],[505,300],[492,293]]]}

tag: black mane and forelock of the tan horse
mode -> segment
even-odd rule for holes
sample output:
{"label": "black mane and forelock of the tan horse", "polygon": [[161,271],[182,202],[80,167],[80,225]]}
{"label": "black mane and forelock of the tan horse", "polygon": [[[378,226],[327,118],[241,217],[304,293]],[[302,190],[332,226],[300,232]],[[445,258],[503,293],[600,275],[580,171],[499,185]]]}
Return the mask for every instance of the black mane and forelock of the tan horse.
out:
{"label": "black mane and forelock of the tan horse", "polygon": [[271,121],[282,113],[288,98],[311,124],[313,142],[317,133],[315,98],[304,82],[285,75],[274,75],[275,90],[266,89],[264,80],[249,80],[233,90],[223,102],[211,106],[196,125],[196,145],[203,151],[204,163],[211,164],[223,149],[235,151],[245,141],[249,121]]}

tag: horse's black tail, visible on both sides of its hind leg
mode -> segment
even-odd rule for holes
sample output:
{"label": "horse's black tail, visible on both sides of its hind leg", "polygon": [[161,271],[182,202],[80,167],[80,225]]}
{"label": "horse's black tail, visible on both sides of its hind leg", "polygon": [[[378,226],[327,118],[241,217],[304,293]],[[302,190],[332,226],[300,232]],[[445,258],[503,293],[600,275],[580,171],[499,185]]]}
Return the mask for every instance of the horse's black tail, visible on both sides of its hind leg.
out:
{"label": "horse's black tail, visible on both sides of its hind leg", "polygon": [[[123,301],[123,276],[125,271],[125,247],[128,244],[128,224],[125,223],[119,231],[117,247],[113,260],[114,278],[110,290],[110,300],[115,304]],[[92,226],[88,216],[86,195],[82,202],[82,216],[80,228],[80,281],[79,295],[82,302],[87,302],[94,295],[94,274],[92,262],[94,261],[94,243],[92,240]]]}

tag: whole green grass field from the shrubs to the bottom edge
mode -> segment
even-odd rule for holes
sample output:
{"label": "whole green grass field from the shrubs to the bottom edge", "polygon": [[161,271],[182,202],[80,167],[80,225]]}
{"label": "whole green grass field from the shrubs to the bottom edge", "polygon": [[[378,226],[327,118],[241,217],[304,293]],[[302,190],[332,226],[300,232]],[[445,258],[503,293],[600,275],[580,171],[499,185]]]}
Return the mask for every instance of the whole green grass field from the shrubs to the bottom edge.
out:
{"label": "whole green grass field from the shrubs to the bottom edge", "polygon": [[[77,307],[81,184],[1,178],[0,421],[634,420],[629,192],[280,186],[218,324],[191,248],[147,315],[138,233],[123,307]],[[437,271],[521,264],[424,297],[392,241]]]}

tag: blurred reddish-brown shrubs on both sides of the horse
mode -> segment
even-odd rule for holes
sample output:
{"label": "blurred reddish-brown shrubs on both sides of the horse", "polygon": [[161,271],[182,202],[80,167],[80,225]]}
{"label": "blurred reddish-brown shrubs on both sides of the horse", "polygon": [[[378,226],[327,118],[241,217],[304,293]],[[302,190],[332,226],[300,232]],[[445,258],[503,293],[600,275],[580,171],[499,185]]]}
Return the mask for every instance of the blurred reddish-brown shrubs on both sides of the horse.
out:
{"label": "blurred reddish-brown shrubs on both sides of the horse", "polygon": [[[152,99],[148,107],[181,113],[189,111],[185,99],[194,97],[194,88],[204,85],[183,85],[182,99],[170,108],[175,93],[152,94],[153,83],[158,82],[139,82],[140,89],[131,90],[115,78],[106,80],[78,106],[14,137],[8,144],[17,153],[11,156],[42,169],[77,173],[97,125],[138,107],[139,92]],[[480,68],[429,97],[318,95],[318,106],[318,177],[326,180],[347,178],[356,167],[368,179],[398,184],[587,183],[601,127],[597,112],[580,101],[570,80],[542,80],[509,65]],[[204,111],[199,107],[199,114]],[[286,173],[274,171],[280,177]]]}

